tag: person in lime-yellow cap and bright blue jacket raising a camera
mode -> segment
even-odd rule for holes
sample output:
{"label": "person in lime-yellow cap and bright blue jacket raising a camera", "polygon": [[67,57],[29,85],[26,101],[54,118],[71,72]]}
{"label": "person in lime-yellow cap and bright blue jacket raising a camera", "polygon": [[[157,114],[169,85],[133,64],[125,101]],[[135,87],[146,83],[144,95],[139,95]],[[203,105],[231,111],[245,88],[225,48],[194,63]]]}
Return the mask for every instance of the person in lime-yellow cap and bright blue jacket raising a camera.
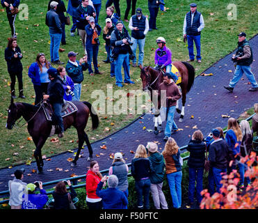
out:
{"label": "person in lime-yellow cap and bright blue jacket raising a camera", "polygon": [[[35,189],[40,189],[40,194],[35,194]],[[43,209],[47,203],[47,192],[43,189],[41,181],[35,181],[26,185],[26,193],[23,196],[22,209]]]}

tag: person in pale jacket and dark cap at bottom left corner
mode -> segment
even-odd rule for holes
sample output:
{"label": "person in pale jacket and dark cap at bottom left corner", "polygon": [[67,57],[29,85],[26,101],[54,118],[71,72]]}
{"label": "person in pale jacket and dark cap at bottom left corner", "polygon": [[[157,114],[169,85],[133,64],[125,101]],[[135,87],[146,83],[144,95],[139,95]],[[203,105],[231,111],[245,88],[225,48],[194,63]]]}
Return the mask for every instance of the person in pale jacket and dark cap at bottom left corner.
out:
{"label": "person in pale jacket and dark cap at bottom left corner", "polygon": [[22,182],[25,169],[15,170],[15,178],[8,181],[10,192],[9,205],[11,209],[22,209],[22,195],[26,189],[26,183]]}

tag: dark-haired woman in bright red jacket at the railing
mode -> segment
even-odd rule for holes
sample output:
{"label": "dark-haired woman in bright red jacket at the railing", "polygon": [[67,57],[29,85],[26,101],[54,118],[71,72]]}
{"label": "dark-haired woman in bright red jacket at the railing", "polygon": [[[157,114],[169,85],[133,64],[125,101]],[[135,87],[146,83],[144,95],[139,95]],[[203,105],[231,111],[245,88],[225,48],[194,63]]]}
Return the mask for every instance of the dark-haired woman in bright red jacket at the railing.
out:
{"label": "dark-haired woman in bright red jacket at the railing", "polygon": [[[99,173],[99,164],[97,161],[90,162],[90,169],[86,174],[86,203],[89,209],[102,209],[102,199],[97,197],[97,185],[102,180],[102,174]],[[104,183],[104,186],[106,183]]]}

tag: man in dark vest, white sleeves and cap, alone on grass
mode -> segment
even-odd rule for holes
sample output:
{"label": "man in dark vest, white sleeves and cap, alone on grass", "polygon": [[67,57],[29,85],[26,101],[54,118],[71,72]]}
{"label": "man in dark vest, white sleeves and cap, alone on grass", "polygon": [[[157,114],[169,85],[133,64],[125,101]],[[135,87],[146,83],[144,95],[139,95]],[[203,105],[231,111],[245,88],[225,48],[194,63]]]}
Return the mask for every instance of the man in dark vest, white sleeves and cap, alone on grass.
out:
{"label": "man in dark vest, white sleeves and cap, alone on grass", "polygon": [[189,61],[195,60],[195,54],[193,53],[193,41],[197,51],[196,59],[198,63],[201,63],[201,31],[204,28],[204,20],[202,14],[196,10],[197,5],[195,3],[190,4],[191,10],[186,13],[184,17],[184,38],[187,38]]}

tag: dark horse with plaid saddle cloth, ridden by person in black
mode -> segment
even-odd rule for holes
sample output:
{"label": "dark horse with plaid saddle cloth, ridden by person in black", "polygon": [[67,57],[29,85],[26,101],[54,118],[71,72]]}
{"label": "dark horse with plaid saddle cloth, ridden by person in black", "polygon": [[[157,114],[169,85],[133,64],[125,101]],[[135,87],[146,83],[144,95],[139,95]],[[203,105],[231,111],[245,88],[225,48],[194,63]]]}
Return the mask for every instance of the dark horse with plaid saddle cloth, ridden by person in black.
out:
{"label": "dark horse with plaid saddle cloth, ridden by person in black", "polygon": [[[63,124],[65,130],[70,128],[72,125],[77,130],[79,144],[78,151],[74,160],[72,161],[72,167],[76,166],[76,161],[79,158],[79,154],[81,153],[81,148],[83,146],[83,142],[86,141],[89,151],[88,160],[92,160],[92,147],[90,146],[90,141],[88,139],[88,135],[84,132],[86,128],[87,121],[89,115],[92,119],[92,130],[95,130],[99,125],[99,117],[95,114],[92,105],[89,102],[79,102],[73,101],[74,105],[77,107],[77,111],[65,116],[63,118]],[[42,109],[42,106],[37,107],[34,105],[29,105],[27,103],[13,102],[13,98],[11,99],[10,107],[8,109],[8,119],[6,123],[6,128],[11,130],[13,125],[15,125],[15,121],[20,117],[23,117],[25,121],[28,123],[27,129],[29,134],[31,135],[33,142],[36,146],[34,157],[37,162],[38,174],[43,171],[44,162],[42,160],[41,148],[44,146],[45,141],[49,137],[51,132],[51,121],[47,121],[45,113]]]}

